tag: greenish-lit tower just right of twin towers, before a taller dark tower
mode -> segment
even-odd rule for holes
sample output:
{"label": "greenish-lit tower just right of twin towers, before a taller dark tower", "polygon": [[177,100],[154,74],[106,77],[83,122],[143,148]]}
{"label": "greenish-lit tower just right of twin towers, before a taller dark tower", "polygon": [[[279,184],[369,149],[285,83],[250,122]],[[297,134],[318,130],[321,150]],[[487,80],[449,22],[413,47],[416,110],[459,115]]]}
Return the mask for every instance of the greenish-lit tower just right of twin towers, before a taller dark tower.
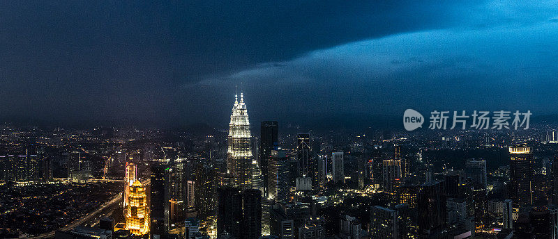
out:
{"label": "greenish-lit tower just right of twin towers, before a taller dark tower", "polygon": [[276,201],[287,200],[289,193],[289,159],[285,151],[271,151],[269,160],[269,198]]}

